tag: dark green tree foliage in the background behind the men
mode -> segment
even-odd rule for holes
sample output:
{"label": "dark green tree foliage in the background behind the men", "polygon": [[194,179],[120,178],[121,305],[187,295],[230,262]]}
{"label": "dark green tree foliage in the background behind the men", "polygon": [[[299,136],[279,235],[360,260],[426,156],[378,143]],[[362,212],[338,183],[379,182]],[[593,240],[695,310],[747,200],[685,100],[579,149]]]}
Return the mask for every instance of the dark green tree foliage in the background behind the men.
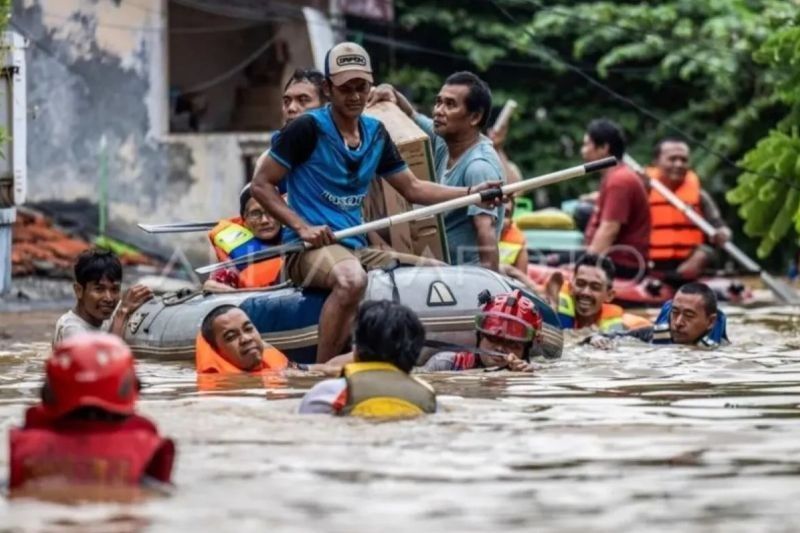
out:
{"label": "dark green tree foliage in the background behind the men", "polygon": [[[779,37],[800,9],[789,0],[397,0],[396,6],[390,32],[396,44],[376,50],[365,43],[378,54],[381,77],[428,110],[447,74],[477,71],[498,105],[507,98],[520,103],[507,148],[527,176],[574,164],[586,124],[605,116],[622,125],[629,152],[642,163],[656,140],[681,136],[675,128],[687,134],[695,169],[722,197],[741,174],[733,161],[755,157],[748,150],[777,134],[770,130],[800,91],[800,70],[790,63],[797,48]],[[785,138],[792,138],[785,129],[791,122],[778,129]],[[568,182],[556,196],[594,185]],[[788,195],[773,192],[778,199]]]}

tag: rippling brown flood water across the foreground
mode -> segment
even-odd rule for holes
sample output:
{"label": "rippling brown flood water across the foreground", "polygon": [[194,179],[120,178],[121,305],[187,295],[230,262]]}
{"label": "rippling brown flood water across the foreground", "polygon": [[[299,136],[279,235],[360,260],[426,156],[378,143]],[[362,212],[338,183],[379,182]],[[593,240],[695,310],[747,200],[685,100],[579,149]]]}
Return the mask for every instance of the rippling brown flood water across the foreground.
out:
{"label": "rippling brown flood water across the foreground", "polygon": [[[188,362],[143,361],[141,411],[178,443],[174,494],[2,498],[0,531],[796,531],[800,316],[730,313],[735,345],[714,352],[570,338],[532,376],[427,376],[441,412],[393,423],[297,415],[308,378],[199,392]],[[3,342],[5,435],[49,346]],[[3,477],[7,460],[3,436]]]}

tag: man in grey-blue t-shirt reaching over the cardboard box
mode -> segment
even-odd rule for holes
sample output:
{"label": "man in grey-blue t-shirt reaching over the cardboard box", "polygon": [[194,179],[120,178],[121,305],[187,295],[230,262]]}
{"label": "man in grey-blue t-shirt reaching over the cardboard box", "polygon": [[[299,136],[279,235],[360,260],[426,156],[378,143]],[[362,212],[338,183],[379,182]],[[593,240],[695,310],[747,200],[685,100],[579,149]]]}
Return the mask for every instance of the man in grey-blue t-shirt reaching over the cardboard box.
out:
{"label": "man in grey-blue t-shirt reaching over the cardboard box", "polygon": [[[481,134],[489,120],[492,93],[486,82],[472,72],[456,72],[445,80],[436,96],[432,120],[414,111],[391,85],[383,84],[372,91],[369,103],[380,101],[396,103],[428,134],[439,183],[475,187],[486,181],[505,181],[492,141]],[[450,261],[498,270],[502,206],[456,209],[445,215],[444,222]]]}

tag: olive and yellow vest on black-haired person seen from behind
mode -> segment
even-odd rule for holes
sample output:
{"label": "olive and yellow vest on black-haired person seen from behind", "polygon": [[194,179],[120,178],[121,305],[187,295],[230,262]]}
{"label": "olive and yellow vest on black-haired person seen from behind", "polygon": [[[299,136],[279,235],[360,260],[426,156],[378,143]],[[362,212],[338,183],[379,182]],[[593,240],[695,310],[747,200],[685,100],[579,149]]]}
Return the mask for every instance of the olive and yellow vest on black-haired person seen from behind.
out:
{"label": "olive and yellow vest on black-haired person seen from behind", "polygon": [[436,412],[436,394],[427,383],[389,363],[344,367],[347,403],[340,414],[366,418],[406,418]]}

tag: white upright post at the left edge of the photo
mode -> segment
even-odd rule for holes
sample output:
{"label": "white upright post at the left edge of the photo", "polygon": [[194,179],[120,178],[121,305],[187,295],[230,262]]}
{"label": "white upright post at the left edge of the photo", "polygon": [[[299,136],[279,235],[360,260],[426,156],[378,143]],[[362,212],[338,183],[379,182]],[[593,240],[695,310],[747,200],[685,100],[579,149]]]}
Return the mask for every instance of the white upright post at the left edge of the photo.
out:
{"label": "white upright post at the left edge of the photo", "polygon": [[11,227],[27,193],[26,46],[16,32],[0,35],[0,294],[11,290]]}

